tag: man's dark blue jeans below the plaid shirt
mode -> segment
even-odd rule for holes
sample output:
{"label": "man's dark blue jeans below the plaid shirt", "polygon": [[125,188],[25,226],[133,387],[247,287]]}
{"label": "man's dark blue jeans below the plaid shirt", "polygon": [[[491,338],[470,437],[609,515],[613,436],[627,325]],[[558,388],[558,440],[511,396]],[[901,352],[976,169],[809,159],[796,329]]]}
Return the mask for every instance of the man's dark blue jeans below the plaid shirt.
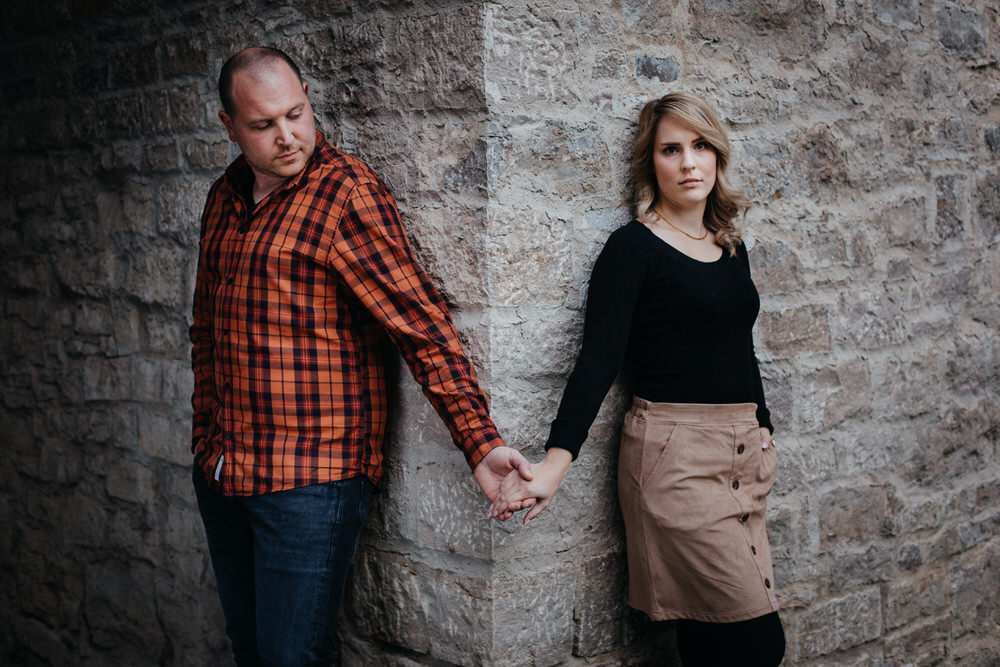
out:
{"label": "man's dark blue jeans below the plaid shirt", "polygon": [[197,467],[193,477],[236,664],[330,665],[374,485],[355,477],[230,498]]}

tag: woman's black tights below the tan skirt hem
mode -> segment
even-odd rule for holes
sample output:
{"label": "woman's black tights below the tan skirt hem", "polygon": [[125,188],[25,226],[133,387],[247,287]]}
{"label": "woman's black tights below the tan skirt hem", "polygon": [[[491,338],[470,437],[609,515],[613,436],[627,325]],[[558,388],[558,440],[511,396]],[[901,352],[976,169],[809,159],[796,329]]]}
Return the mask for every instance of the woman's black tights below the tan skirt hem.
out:
{"label": "woman's black tights below the tan skirt hem", "polygon": [[684,667],[775,667],[785,655],[778,612],[738,623],[677,621],[677,652]]}

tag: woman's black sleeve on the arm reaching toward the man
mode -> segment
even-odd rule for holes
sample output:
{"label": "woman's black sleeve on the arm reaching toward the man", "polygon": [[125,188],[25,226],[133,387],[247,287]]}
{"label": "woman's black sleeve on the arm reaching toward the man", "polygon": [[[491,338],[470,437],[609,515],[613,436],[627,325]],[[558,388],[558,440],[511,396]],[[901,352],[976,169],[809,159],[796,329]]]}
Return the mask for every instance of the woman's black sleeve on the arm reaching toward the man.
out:
{"label": "woman's black sleeve on the arm reaching toward the man", "polygon": [[561,447],[574,459],[579,455],[624,363],[642,272],[642,263],[622,230],[612,234],[590,275],[583,346],[566,382],[546,450]]}

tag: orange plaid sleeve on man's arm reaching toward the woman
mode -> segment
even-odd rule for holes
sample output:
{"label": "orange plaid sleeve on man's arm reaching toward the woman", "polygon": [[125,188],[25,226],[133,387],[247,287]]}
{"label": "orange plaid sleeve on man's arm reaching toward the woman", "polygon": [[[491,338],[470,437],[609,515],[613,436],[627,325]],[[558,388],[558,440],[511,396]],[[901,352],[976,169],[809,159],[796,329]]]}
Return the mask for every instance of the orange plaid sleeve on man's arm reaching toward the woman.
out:
{"label": "orange plaid sleeve on man's arm reaching toward the woman", "polygon": [[351,192],[330,264],[403,355],[469,466],[503,445],[448,308],[417,264],[380,182],[361,182]]}

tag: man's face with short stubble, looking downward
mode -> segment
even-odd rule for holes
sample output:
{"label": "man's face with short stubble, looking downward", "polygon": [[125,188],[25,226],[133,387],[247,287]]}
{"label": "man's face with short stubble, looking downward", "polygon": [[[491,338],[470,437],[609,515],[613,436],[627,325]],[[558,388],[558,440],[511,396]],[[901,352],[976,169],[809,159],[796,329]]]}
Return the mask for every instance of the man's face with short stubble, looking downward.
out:
{"label": "man's face with short stubble, looking downward", "polygon": [[316,124],[295,72],[283,62],[233,76],[233,114],[219,112],[229,139],[239,144],[259,185],[301,172],[316,148]]}

